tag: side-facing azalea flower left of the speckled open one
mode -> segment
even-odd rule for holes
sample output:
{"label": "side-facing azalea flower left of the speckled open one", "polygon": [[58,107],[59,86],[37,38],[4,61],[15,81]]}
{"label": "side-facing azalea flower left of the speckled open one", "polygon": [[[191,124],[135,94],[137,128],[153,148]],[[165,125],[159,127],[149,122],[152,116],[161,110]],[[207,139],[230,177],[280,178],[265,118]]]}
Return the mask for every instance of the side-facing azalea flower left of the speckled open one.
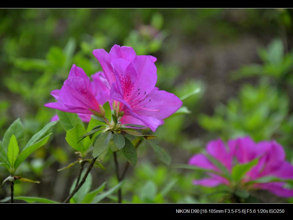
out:
{"label": "side-facing azalea flower left of the speckled open one", "polygon": [[45,106],[79,114],[99,113],[99,104],[103,104],[110,97],[110,92],[104,89],[105,86],[101,83],[99,75],[103,76],[103,73],[94,74],[91,82],[82,68],[72,65],[68,79],[64,81],[61,90],[51,92],[57,102],[47,103]]}

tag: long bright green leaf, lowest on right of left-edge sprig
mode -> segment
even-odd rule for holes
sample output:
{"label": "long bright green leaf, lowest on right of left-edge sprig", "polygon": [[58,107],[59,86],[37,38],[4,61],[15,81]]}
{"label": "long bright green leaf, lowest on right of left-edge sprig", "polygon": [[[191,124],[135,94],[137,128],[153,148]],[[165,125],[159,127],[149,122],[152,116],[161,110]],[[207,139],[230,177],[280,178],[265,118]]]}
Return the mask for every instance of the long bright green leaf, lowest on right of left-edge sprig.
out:
{"label": "long bright green leaf, lowest on right of left-edge sprig", "polygon": [[38,142],[35,142],[34,144],[24,147],[19,156],[17,157],[15,164],[14,164],[14,169],[17,169],[17,167],[26,159],[30,154],[38,150],[40,147],[44,146],[47,141],[49,140],[50,135],[52,133],[48,134],[47,136],[43,137],[41,140]]}

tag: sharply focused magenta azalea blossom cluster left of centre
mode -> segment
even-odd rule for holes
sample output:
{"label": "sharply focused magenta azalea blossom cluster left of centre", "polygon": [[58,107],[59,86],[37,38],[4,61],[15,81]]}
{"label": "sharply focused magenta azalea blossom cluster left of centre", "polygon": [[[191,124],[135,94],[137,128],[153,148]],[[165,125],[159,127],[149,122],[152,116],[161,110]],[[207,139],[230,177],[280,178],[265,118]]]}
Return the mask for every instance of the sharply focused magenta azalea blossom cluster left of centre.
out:
{"label": "sharply focused magenta azalea blossom cluster left of centre", "polygon": [[[108,101],[123,115],[122,124],[143,125],[152,131],[181,107],[182,102],[176,95],[155,87],[155,57],[137,56],[132,47],[118,45],[109,53],[96,49],[93,55],[103,72],[95,73],[91,80],[74,64],[61,90],[51,92],[57,102],[45,106],[78,113],[81,120],[88,122],[91,115],[104,113],[101,106]],[[52,120],[56,119],[55,116]]]}

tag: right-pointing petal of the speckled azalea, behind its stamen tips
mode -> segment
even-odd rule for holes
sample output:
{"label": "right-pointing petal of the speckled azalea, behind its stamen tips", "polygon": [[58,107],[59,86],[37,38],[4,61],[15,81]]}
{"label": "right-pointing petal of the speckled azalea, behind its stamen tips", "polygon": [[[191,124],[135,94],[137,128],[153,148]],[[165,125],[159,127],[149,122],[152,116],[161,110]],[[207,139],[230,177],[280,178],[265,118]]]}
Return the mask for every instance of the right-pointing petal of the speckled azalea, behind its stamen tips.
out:
{"label": "right-pointing petal of the speckled azalea, behind its stamen tips", "polygon": [[182,101],[174,94],[163,90],[153,90],[141,102],[130,104],[137,115],[149,115],[163,120],[175,113],[182,105]]}

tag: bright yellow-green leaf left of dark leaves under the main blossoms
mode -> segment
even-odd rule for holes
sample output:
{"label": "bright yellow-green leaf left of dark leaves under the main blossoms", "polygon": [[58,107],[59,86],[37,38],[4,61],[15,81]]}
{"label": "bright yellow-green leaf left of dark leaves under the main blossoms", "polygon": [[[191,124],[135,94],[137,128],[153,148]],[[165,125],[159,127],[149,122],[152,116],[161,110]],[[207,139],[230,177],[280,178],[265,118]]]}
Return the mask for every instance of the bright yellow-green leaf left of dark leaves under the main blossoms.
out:
{"label": "bright yellow-green leaf left of dark leaves under the main blossoms", "polygon": [[79,137],[86,133],[86,129],[81,124],[77,124],[74,128],[66,132],[65,140],[76,151],[84,153],[91,145],[91,139],[85,137],[79,142]]}

